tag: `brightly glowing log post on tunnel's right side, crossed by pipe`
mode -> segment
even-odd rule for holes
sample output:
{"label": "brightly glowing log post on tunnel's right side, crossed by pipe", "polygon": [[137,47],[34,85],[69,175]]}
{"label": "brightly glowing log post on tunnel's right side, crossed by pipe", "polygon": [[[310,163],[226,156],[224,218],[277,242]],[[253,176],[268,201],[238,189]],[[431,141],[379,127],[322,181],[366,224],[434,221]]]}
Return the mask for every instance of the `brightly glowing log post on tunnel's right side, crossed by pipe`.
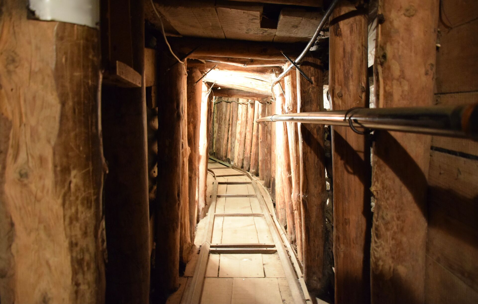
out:
{"label": "brightly glowing log post on tunnel's right side, crossed by pipe", "polygon": [[[282,94],[281,85],[283,81],[280,81],[274,86],[274,95],[275,95],[275,113],[283,113],[284,95]],[[283,88],[283,86],[282,86]],[[283,161],[284,161],[284,150],[285,148],[285,123],[277,122],[275,123],[275,212],[277,216],[277,221],[285,226],[287,224],[286,215],[285,215],[285,197],[284,197],[284,187],[282,182],[282,176],[284,175],[283,170]]]}

